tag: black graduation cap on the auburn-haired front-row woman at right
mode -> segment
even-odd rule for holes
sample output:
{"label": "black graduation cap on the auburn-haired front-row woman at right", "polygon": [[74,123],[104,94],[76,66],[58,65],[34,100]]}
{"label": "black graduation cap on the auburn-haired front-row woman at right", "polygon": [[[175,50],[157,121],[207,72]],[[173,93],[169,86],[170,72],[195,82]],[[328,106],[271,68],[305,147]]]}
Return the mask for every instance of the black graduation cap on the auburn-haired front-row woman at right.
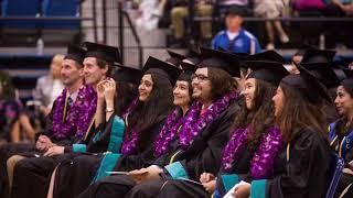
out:
{"label": "black graduation cap on the auburn-haired front-row woman at right", "polygon": [[281,82],[296,87],[313,105],[321,103],[322,99],[331,103],[327,88],[302,66],[299,65],[298,69],[300,74],[288,75]]}

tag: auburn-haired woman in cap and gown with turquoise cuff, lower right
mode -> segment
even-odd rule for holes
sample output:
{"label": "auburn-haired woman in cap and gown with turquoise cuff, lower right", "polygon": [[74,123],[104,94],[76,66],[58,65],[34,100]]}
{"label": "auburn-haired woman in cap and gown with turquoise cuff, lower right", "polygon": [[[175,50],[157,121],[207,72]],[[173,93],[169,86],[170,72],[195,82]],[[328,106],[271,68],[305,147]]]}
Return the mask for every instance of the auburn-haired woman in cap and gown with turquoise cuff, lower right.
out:
{"label": "auburn-haired woman in cap and gown with turquoise cuff, lower right", "polygon": [[330,151],[321,106],[331,100],[325,88],[308,70],[285,77],[274,96],[275,118],[286,146],[267,179],[238,186],[243,197],[324,197],[330,178]]}

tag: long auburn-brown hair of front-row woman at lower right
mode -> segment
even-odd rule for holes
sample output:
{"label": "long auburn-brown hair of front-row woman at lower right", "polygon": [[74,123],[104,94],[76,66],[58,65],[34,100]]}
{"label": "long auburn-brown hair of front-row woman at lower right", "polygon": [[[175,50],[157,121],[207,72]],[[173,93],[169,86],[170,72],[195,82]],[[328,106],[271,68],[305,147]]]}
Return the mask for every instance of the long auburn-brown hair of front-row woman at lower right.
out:
{"label": "long auburn-brown hair of front-row woman at lower right", "polygon": [[328,136],[327,121],[322,105],[311,103],[301,91],[292,86],[281,82],[285,95],[284,109],[276,118],[276,122],[282,132],[285,142],[290,142],[296,133],[302,129],[319,131],[319,134]]}

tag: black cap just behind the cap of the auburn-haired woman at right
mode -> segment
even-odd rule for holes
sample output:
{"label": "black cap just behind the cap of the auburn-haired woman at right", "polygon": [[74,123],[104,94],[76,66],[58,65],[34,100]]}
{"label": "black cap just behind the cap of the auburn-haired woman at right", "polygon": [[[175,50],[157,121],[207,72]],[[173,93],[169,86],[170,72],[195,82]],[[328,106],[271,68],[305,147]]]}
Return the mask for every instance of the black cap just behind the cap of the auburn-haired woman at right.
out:
{"label": "black cap just behind the cap of the auburn-haired woman at right", "polygon": [[340,85],[340,78],[328,63],[301,63],[315,78],[318,78],[327,88],[334,88]]}

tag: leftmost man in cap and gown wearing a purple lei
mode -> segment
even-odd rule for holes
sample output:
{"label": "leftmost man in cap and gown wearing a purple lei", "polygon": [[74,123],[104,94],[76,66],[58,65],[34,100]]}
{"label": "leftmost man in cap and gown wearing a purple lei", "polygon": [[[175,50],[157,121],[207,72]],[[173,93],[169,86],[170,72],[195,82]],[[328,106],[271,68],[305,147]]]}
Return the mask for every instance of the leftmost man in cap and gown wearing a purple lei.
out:
{"label": "leftmost man in cap and gown wearing a purple lei", "polygon": [[[85,123],[94,117],[96,108],[96,92],[89,86],[84,86],[83,58],[86,51],[69,45],[64,58],[62,72],[65,89],[56,98],[51,113],[46,118],[45,131],[38,134],[35,144],[12,143],[0,148],[0,197],[7,197],[7,161],[12,155],[21,153],[22,158],[43,155],[54,145],[67,145],[82,140],[89,123]],[[72,100],[68,105],[68,99]],[[74,100],[75,99],[75,100]],[[88,121],[90,122],[90,120]],[[76,123],[82,123],[77,125]],[[21,160],[22,160],[21,158]],[[10,173],[10,177],[11,177]]]}

